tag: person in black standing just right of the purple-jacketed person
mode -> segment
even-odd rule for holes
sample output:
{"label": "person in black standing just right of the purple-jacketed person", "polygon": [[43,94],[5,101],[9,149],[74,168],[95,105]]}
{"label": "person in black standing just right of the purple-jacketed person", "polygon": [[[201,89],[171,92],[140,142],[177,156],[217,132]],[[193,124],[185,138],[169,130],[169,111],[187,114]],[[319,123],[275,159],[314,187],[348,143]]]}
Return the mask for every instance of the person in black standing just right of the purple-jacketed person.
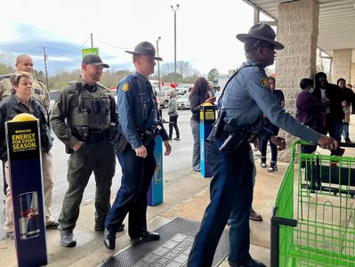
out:
{"label": "person in black standing just right of the purple-jacketed person", "polygon": [[[341,142],[344,118],[342,102],[345,100],[343,90],[338,85],[329,84],[327,74],[324,72],[317,73],[314,80],[316,85],[314,95],[327,105],[326,123],[322,134],[329,134],[330,137]],[[344,152],[344,149],[337,148],[332,150],[330,155],[343,156]]]}

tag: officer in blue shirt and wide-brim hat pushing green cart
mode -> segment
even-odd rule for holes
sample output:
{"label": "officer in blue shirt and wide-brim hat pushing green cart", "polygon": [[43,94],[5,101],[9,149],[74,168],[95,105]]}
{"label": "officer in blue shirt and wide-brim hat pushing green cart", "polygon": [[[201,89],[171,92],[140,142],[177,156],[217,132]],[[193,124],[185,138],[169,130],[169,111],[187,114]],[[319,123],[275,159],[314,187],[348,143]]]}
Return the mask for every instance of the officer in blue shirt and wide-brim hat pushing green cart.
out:
{"label": "officer in blue shirt and wide-brim hat pushing green cart", "polygon": [[[253,163],[249,142],[259,134],[262,113],[274,125],[326,149],[338,146],[333,138],[301,125],[278,105],[270,90],[264,68],[274,62],[275,49],[284,46],[275,41],[275,32],[267,24],[256,24],[248,34],[237,38],[245,43],[246,62],[225,86],[221,116],[206,145],[206,159],[214,178],[211,202],[206,207],[200,230],[190,251],[188,266],[211,266],[222,231],[230,223],[230,266],[265,266],[249,255],[249,215],[253,199]],[[261,124],[262,125],[262,124]],[[262,128],[262,127],[260,127]],[[264,134],[264,133],[262,133]],[[275,139],[279,147],[285,140]]]}

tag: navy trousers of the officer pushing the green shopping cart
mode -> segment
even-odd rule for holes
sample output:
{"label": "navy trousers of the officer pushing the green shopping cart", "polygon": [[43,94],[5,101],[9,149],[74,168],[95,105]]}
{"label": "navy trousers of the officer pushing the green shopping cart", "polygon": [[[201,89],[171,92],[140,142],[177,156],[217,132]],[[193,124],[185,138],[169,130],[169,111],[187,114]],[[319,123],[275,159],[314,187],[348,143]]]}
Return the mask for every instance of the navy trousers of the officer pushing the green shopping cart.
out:
{"label": "navy trousers of the officer pushing the green shopping cart", "polygon": [[[216,143],[218,147],[226,136]],[[214,252],[228,219],[230,222],[230,263],[246,263],[249,255],[249,215],[253,200],[253,168],[250,145],[243,142],[225,155],[216,143],[206,144],[206,160],[214,178],[210,185],[211,202],[206,207],[201,227],[190,251],[188,266],[211,266]]]}

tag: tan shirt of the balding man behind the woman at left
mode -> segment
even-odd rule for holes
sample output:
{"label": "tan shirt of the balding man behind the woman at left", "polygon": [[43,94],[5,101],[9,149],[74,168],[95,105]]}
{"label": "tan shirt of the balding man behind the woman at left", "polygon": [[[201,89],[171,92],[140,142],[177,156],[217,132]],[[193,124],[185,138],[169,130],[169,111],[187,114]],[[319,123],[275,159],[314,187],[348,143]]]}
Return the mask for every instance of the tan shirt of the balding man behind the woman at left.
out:
{"label": "tan shirt of the balding man behind the woman at left", "polygon": [[[50,99],[47,86],[41,80],[33,79],[33,93],[32,95],[36,97],[36,99],[42,101],[44,103],[45,108],[49,109]],[[12,95],[11,93],[12,85],[10,82],[10,77],[6,77],[0,80],[0,101],[3,100],[4,97],[9,97]]]}

